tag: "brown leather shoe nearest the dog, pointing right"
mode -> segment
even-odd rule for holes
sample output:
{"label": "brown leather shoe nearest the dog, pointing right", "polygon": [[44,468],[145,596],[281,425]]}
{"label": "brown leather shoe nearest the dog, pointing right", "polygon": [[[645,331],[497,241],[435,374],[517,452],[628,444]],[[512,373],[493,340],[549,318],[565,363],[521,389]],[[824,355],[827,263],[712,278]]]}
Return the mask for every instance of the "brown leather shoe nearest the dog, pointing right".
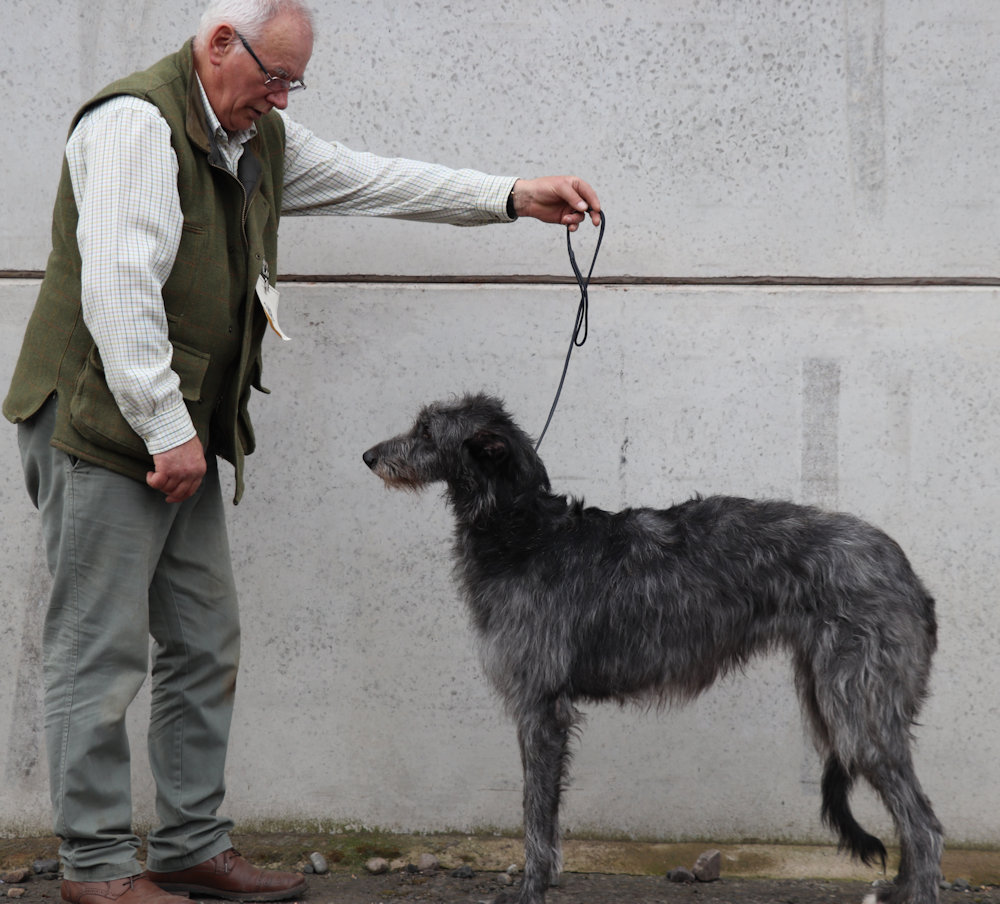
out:
{"label": "brown leather shoe nearest the dog, pointing right", "polygon": [[305,876],[301,873],[258,869],[233,848],[204,863],[172,873],[150,870],[149,878],[167,891],[186,891],[196,897],[204,895],[229,901],[284,901],[306,890]]}

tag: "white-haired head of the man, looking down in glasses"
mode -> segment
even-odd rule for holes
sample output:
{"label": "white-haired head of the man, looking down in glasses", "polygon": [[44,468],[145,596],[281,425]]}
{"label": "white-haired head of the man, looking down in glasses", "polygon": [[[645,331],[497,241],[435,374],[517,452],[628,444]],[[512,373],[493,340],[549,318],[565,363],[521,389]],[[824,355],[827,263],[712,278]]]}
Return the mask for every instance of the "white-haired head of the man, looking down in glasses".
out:
{"label": "white-haired head of the man, looking down in glasses", "polygon": [[312,14],[302,0],[212,0],[194,58],[222,127],[237,132],[272,107],[283,110],[288,83],[302,79],[312,45]]}

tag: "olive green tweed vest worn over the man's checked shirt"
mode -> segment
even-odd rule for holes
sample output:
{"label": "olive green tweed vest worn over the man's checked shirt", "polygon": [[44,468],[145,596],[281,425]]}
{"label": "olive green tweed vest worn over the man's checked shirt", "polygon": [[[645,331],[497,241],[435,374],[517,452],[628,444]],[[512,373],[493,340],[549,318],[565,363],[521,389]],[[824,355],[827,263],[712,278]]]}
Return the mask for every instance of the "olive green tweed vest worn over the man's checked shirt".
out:
{"label": "olive green tweed vest worn over the man's checked shirt", "polygon": [[[257,122],[257,135],[244,146],[239,178],[233,176],[208,133],[190,42],[144,72],[109,85],[84,104],[73,127],[88,109],[120,94],[155,104],[170,126],[184,214],[177,259],[163,287],[171,366],[206,452],[236,469],[238,502],[243,458],[255,445],[247,412],[250,390],[267,391],[260,384],[267,319],[254,286],[265,261],[272,284],[277,273],[284,124],[274,112]],[[152,457],[122,417],[83,322],[77,219],[64,160],[52,252],[3,413],[19,423],[56,393],[52,445],[145,482]]]}

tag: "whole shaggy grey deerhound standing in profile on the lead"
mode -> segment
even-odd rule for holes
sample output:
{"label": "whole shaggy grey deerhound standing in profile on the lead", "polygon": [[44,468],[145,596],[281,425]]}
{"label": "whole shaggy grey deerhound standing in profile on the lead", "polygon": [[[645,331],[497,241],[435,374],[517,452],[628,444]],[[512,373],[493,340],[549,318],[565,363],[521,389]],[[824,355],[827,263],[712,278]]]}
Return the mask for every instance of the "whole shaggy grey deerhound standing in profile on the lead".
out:
{"label": "whole shaggy grey deerhound standing in profile on the lead", "polygon": [[447,487],[456,576],[483,667],[517,723],[519,904],[541,904],[559,875],[575,701],[690,700],[776,648],[791,654],[826,758],[823,819],[841,847],[884,868],[885,847],[848,803],[862,776],[899,834],[899,874],[882,899],[938,900],[941,826],[910,751],[936,646],[934,601],[892,539],[789,502],[585,508],[550,491],[531,440],[486,395],[428,405],[364,461],[389,487]]}

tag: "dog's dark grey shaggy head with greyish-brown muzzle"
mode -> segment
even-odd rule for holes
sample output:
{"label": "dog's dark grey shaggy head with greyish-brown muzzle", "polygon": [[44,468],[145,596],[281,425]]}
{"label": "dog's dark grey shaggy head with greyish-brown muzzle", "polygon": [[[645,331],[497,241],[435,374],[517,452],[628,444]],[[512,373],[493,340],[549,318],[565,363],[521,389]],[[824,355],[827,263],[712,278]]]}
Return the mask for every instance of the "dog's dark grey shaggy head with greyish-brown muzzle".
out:
{"label": "dog's dark grey shaggy head with greyish-brown muzzle", "polygon": [[477,514],[549,489],[531,439],[483,393],[425,406],[408,433],[373,446],[364,462],[390,487],[443,481],[456,510]]}

